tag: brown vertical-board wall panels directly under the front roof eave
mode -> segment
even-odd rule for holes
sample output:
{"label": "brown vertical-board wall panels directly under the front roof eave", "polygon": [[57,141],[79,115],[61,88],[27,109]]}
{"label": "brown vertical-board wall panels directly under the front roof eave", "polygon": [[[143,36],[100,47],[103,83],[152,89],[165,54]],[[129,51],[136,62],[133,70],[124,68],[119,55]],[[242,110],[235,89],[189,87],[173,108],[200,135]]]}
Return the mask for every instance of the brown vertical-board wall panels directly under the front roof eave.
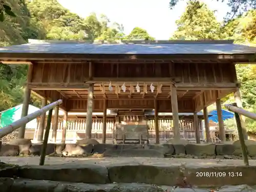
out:
{"label": "brown vertical-board wall panels directly under the front roof eave", "polygon": [[[171,65],[170,65],[171,64]],[[232,83],[232,63],[93,63],[95,78],[170,77],[183,83]],[[35,63],[33,83],[83,83],[89,77],[89,63]]]}

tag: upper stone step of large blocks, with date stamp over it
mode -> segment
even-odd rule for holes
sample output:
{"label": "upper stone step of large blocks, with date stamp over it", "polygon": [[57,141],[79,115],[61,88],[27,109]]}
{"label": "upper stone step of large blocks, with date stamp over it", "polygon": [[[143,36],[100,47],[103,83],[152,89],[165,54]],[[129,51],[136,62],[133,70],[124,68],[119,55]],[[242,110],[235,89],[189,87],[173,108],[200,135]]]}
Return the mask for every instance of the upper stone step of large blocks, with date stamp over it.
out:
{"label": "upper stone step of large blocks, with date stamp over it", "polygon": [[[1,177],[11,177],[10,170],[2,170]],[[186,182],[193,186],[256,185],[253,177],[256,166],[212,166],[212,165],[152,165],[92,164],[32,165],[15,167],[13,175],[33,180],[51,180],[76,183],[146,183],[179,186]]]}

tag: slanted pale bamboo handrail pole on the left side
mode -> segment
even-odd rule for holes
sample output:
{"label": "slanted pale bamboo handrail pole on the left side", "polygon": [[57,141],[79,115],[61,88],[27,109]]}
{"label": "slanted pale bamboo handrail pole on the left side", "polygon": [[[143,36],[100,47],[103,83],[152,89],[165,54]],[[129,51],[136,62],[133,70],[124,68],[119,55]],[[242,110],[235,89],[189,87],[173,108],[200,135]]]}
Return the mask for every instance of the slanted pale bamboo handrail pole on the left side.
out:
{"label": "slanted pale bamboo handrail pole on the left side", "polygon": [[41,114],[46,113],[47,111],[53,109],[55,106],[60,105],[62,103],[62,100],[57,100],[47,106],[45,106],[44,108],[41,108],[40,110],[31,113],[25,117],[20,118],[19,120],[13,122],[12,124],[5,126],[1,129],[0,131],[0,138],[14,132],[15,130],[17,130],[20,126],[28,123],[29,121],[32,121],[33,119],[39,117]]}

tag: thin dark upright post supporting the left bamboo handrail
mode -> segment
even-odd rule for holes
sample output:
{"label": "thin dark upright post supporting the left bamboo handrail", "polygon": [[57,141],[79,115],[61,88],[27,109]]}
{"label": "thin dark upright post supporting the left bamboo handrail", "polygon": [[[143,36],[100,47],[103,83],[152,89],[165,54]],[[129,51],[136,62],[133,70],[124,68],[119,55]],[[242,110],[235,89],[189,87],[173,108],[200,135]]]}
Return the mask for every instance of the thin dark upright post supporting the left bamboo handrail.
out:
{"label": "thin dark upright post supporting the left bamboo handrail", "polygon": [[52,111],[53,111],[53,109],[51,109],[48,113],[48,118],[47,118],[47,123],[46,123],[46,132],[45,132],[44,142],[42,143],[42,151],[40,154],[39,165],[45,164],[46,148],[47,148],[47,143],[48,143],[48,138],[49,138],[49,132],[51,129]]}

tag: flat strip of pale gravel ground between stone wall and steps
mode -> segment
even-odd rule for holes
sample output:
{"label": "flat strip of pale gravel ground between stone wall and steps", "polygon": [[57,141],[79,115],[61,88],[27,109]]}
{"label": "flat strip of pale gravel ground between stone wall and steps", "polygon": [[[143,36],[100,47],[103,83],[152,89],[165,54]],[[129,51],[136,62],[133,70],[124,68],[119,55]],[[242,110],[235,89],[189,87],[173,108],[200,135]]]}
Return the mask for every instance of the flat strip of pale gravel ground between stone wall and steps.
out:
{"label": "flat strip of pale gravel ground between stone wall and steps", "polygon": [[[40,157],[0,157],[4,163],[17,165],[38,165]],[[185,163],[188,166],[209,167],[209,166],[241,166],[243,160],[233,159],[182,159],[182,158],[131,158],[131,157],[114,157],[114,158],[64,158],[64,157],[46,157],[45,164],[99,164],[102,166],[110,164],[151,164],[151,165],[181,165]],[[256,166],[256,160],[249,160],[249,164]]]}

